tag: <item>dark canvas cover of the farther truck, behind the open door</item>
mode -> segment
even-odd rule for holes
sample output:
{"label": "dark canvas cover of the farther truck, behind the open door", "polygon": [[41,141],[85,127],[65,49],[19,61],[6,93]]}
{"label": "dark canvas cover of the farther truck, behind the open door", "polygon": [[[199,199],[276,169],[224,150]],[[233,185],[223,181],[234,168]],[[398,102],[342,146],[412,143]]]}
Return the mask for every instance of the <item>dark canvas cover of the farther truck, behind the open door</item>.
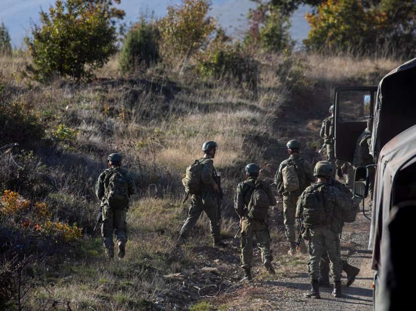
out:
{"label": "dark canvas cover of the farther truck, behind the open door", "polygon": [[379,83],[374,105],[370,154],[394,136],[416,125],[416,58],[388,73]]}

